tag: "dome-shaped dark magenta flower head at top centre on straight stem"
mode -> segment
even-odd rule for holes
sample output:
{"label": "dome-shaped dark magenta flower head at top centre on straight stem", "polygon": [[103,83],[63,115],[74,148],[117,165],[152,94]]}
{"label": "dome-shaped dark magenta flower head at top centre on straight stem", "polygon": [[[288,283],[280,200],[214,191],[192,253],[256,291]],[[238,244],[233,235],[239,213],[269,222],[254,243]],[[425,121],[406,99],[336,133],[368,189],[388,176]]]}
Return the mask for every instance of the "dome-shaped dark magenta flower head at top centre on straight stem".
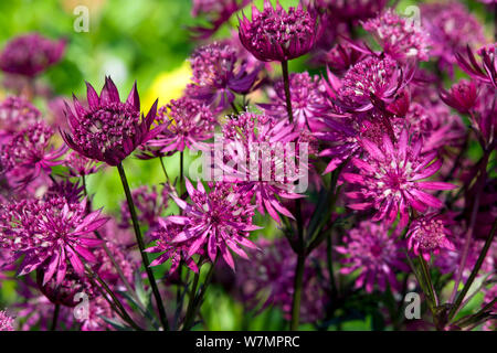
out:
{"label": "dome-shaped dark magenta flower head at top centre on straight stem", "polygon": [[263,62],[288,61],[309,52],[319,36],[316,14],[298,8],[288,12],[279,2],[276,9],[264,0],[260,12],[252,6],[252,21],[245,14],[240,20],[240,41],[255,57]]}

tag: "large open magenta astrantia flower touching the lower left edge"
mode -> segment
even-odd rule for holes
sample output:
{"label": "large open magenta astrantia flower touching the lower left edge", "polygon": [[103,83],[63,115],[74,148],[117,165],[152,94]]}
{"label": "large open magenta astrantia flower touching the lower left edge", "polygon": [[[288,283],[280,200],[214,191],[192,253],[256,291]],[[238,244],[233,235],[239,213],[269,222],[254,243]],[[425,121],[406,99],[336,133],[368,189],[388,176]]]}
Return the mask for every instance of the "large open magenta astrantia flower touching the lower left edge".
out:
{"label": "large open magenta astrantia flower touching the lower left edge", "polygon": [[17,257],[23,256],[20,276],[42,268],[43,285],[54,276],[60,285],[67,272],[67,263],[76,275],[84,276],[81,258],[96,261],[88,248],[102,240],[94,238],[92,233],[106,221],[101,211],[86,214],[84,202],[70,204],[64,197],[27,200],[3,210],[0,246],[13,249]]}

